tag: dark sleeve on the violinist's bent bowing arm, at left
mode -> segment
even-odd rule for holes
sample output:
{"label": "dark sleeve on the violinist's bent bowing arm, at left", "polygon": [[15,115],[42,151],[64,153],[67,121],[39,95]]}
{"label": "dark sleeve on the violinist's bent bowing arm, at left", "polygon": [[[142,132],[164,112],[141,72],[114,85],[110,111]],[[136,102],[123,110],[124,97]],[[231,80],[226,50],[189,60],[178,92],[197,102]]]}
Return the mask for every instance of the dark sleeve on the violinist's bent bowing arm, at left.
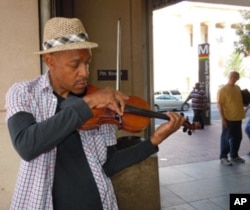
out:
{"label": "dark sleeve on the violinist's bent bowing arm, at left", "polygon": [[61,108],[61,111],[42,122],[36,122],[31,113],[23,111],[8,119],[13,146],[24,160],[30,161],[55,148],[92,117],[88,105],[78,97],[64,100]]}

